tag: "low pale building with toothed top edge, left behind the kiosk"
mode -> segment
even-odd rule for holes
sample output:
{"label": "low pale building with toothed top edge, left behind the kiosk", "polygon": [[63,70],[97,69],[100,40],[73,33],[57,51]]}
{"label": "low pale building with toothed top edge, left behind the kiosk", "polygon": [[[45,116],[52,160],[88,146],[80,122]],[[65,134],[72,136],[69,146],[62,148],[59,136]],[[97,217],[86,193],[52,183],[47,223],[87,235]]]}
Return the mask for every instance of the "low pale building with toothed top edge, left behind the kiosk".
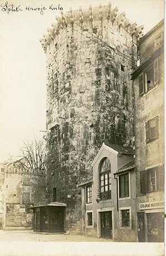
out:
{"label": "low pale building with toothed top edge, left behind the kiosk", "polygon": [[23,159],[6,165],[3,188],[3,229],[33,228],[33,211],[29,207],[45,202],[45,173],[23,168]]}

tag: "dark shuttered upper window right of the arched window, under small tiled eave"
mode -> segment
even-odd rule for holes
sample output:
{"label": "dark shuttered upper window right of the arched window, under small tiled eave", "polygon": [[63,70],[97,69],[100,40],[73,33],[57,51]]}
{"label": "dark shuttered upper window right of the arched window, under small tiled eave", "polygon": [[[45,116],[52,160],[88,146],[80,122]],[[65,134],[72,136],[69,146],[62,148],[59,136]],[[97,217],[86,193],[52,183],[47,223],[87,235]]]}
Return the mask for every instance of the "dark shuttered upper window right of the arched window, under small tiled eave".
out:
{"label": "dark shuttered upper window right of the arched window, under small tiled eave", "polygon": [[120,198],[129,197],[128,173],[119,176]]}

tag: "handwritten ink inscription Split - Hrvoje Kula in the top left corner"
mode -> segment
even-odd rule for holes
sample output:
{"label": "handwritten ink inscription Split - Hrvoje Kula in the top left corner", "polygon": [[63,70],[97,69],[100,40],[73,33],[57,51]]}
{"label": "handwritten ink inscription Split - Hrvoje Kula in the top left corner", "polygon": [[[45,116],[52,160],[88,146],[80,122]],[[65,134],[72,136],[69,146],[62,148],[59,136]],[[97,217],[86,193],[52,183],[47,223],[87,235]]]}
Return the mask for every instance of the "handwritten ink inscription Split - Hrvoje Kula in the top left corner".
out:
{"label": "handwritten ink inscription Split - Hrvoje Kula in the top left corner", "polygon": [[7,14],[11,13],[11,12],[21,12],[21,11],[29,11],[29,12],[39,12],[41,15],[43,15],[44,11],[63,11],[63,7],[60,6],[60,4],[58,4],[58,6],[54,6],[53,4],[51,4],[49,7],[46,6],[42,6],[41,7],[34,7],[34,6],[21,6],[19,4],[19,6],[14,6],[14,4],[8,4],[8,2],[6,2],[5,4],[1,4],[1,9],[2,12],[6,12]]}

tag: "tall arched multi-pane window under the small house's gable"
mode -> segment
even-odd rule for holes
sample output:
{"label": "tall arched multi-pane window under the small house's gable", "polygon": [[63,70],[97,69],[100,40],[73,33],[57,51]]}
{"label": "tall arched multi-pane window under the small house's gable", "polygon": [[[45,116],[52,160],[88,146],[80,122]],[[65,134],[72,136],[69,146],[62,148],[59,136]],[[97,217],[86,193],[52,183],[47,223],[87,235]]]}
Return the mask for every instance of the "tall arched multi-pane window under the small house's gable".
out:
{"label": "tall arched multi-pane window under the small house's gable", "polygon": [[111,198],[111,163],[104,158],[100,165],[100,198]]}

